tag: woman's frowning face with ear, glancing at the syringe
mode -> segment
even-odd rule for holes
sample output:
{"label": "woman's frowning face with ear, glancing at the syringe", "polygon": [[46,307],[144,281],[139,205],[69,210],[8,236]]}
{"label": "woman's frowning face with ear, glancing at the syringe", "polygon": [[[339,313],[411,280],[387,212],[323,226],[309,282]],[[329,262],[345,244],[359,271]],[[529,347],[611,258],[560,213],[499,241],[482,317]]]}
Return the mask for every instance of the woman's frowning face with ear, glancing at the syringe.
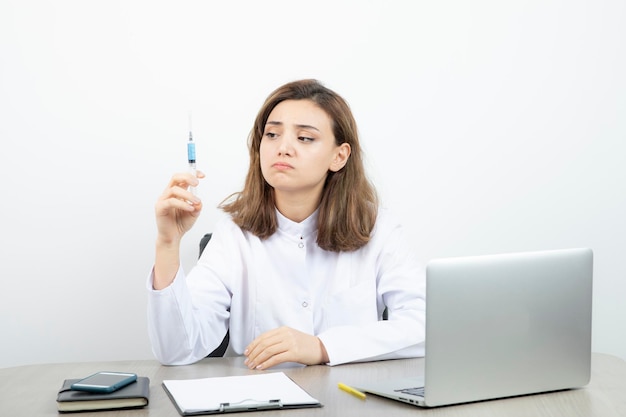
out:
{"label": "woman's frowning face with ear, glancing at the syringe", "polygon": [[286,100],[267,118],[261,172],[275,193],[321,195],[328,171],[347,162],[350,145],[337,146],[332,120],[310,100]]}

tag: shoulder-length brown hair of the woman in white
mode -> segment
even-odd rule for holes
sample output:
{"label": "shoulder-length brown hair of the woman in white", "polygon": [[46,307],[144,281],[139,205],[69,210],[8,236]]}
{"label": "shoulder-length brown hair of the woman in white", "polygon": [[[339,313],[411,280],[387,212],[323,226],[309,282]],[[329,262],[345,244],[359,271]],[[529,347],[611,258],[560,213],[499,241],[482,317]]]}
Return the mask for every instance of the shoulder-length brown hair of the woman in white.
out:
{"label": "shoulder-length brown hair of the woman in white", "polygon": [[259,148],[270,113],[285,100],[311,100],[332,120],[336,144],[351,148],[346,165],[329,171],[319,206],[317,244],[340,252],[359,249],[369,242],[376,223],[378,197],[365,175],[356,122],[348,103],[317,80],[300,80],[277,88],[259,110],[248,137],[250,167],[244,189],[228,197],[220,208],[243,230],[261,239],[277,228],[274,189],[261,173]]}

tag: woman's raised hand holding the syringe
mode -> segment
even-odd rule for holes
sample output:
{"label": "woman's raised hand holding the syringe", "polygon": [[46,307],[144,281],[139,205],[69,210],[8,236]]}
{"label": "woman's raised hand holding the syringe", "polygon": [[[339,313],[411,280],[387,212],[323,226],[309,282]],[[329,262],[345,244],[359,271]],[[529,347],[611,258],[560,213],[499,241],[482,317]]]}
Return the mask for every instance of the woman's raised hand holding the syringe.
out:
{"label": "woman's raised hand holding the syringe", "polygon": [[200,216],[202,202],[189,191],[198,185],[199,178],[204,178],[204,173],[197,171],[194,176],[182,172],[170,179],[155,205],[157,244],[178,245]]}

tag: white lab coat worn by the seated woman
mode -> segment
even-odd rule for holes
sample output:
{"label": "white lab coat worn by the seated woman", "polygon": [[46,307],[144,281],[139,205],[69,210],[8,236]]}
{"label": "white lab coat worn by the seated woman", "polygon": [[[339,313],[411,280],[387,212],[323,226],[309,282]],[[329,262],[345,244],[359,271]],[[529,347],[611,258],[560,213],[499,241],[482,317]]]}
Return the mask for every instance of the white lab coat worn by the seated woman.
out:
{"label": "white lab coat worn by the seated woman", "polygon": [[224,216],[188,275],[179,269],[160,291],[150,275],[149,335],[160,362],[198,361],[229,328],[226,355],[242,355],[280,326],[318,336],[329,365],[424,355],[424,269],[386,210],[367,245],[341,253],[316,244],[317,212],[300,223],[277,216],[266,240]]}

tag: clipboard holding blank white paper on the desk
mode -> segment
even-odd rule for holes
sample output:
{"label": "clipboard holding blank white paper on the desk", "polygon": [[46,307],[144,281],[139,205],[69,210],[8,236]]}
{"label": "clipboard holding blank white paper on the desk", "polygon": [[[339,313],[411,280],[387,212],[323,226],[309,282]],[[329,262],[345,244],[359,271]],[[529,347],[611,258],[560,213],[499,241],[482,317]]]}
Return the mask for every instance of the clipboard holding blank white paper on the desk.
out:
{"label": "clipboard holding blank white paper on the desk", "polygon": [[162,385],[181,416],[322,407],[284,372],[170,379]]}

